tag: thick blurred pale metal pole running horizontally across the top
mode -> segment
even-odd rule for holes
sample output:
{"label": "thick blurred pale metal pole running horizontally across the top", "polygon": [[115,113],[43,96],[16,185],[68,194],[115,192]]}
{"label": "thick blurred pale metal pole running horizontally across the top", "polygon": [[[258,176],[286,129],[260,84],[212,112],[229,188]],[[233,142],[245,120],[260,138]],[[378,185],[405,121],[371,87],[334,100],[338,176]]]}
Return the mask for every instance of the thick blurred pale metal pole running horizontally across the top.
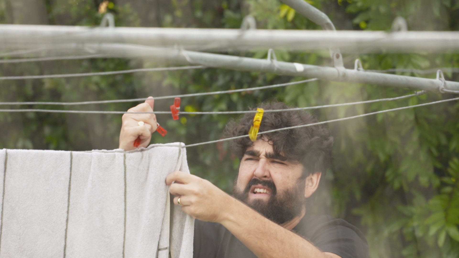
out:
{"label": "thick blurred pale metal pole running horizontally across the top", "polygon": [[[64,44],[125,43],[188,50],[293,51],[340,48],[342,52],[448,52],[459,50],[459,32],[322,31],[202,29],[202,28],[89,28],[50,25],[0,25],[0,49],[62,49]],[[45,51],[45,50],[43,50]],[[51,52],[47,52],[48,54]],[[53,55],[55,54],[52,52]],[[0,52],[0,55],[2,53]],[[27,54],[27,53],[25,53]],[[43,54],[40,51],[35,56]],[[88,54],[88,53],[86,53]],[[28,56],[34,56],[28,54]]]}

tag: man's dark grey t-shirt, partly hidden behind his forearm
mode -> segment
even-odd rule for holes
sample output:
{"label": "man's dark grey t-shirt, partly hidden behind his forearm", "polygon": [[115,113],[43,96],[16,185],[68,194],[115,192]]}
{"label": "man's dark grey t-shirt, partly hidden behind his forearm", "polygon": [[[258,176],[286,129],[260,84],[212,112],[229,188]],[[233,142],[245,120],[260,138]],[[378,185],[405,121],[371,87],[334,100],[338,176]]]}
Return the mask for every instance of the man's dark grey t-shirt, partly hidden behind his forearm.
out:
{"label": "man's dark grey t-shirt, partly hidden behind his forearm", "polygon": [[[341,258],[368,257],[364,235],[343,219],[328,215],[305,215],[292,231],[323,252],[332,252]],[[194,237],[193,258],[256,258],[221,224],[196,219]]]}

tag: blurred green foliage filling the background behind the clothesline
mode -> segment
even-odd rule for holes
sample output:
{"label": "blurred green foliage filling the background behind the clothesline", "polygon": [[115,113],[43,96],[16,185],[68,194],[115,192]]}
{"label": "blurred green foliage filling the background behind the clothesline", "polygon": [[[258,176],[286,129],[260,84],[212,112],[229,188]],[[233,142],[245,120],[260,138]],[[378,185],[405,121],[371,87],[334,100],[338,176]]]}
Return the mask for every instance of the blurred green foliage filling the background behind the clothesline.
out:
{"label": "blurred green foliage filling the background behind the clothesline", "polygon": [[[102,15],[94,1],[47,2],[51,24],[97,26]],[[308,0],[325,11],[338,29],[390,30],[397,16],[407,19],[410,30],[458,30],[459,4],[451,0]],[[109,8],[117,26],[139,26],[145,17],[134,5]],[[0,19],[5,19],[0,11]],[[153,8],[165,27],[239,28],[252,14],[257,28],[320,29],[278,0],[174,0]],[[67,17],[62,22],[62,17]],[[149,17],[149,16],[147,16]],[[143,19],[143,20],[142,20]],[[1,21],[5,22],[5,21]],[[360,58],[365,69],[459,67],[457,54],[347,54],[346,67]],[[267,51],[229,54],[265,58]],[[329,65],[327,50],[290,53],[276,50],[279,60]],[[166,66],[160,61],[91,59],[0,65],[1,75],[79,73],[135,67]],[[398,73],[434,78],[434,74]],[[457,74],[445,73],[448,80]],[[1,101],[83,101],[126,99],[148,95],[196,93],[248,88],[304,78],[206,68],[167,73],[125,74],[73,79],[0,81]],[[241,94],[183,98],[185,111],[234,111],[256,107],[277,98],[298,107],[395,97],[411,90],[375,85],[315,81],[285,88]],[[448,98],[425,94],[399,101],[314,110],[319,120],[415,105]],[[88,110],[127,110],[137,103],[65,107]],[[168,110],[168,101],[157,101],[156,110]],[[60,108],[34,106],[34,108]],[[372,117],[330,123],[335,137],[334,163],[318,193],[317,212],[327,212],[358,225],[367,236],[373,258],[459,257],[459,103],[448,102]],[[153,142],[187,144],[222,137],[224,115],[158,115],[168,130],[153,134]],[[118,146],[121,118],[115,115],[63,115],[0,113],[0,148],[88,150]],[[226,142],[191,147],[191,172],[231,192],[239,161]]]}

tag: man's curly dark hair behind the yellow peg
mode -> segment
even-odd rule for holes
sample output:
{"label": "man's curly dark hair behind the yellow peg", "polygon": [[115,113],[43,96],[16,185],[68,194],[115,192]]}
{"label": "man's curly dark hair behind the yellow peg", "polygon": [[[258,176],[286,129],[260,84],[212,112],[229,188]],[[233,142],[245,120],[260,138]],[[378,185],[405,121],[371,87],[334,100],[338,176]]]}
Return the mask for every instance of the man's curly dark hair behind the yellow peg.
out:
{"label": "man's curly dark hair behind the yellow peg", "polygon": [[[276,100],[263,102],[260,107],[264,110],[291,108]],[[252,125],[253,115],[253,113],[247,113],[239,121],[231,120],[226,125],[225,136],[247,135]],[[259,132],[317,122],[314,115],[302,110],[264,112]],[[330,136],[330,130],[321,124],[258,136],[258,138],[261,137],[266,137],[272,142],[274,154],[280,154],[286,160],[302,163],[304,167],[302,178],[315,172],[325,174],[330,167],[333,137]],[[244,156],[246,149],[252,144],[253,142],[248,137],[231,141],[232,151],[239,159]]]}

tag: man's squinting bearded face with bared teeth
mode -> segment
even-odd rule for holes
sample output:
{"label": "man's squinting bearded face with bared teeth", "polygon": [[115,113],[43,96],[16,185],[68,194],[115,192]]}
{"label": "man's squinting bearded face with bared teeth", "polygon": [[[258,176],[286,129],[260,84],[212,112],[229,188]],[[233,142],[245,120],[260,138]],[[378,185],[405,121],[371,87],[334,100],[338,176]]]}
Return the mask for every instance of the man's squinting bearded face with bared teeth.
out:
{"label": "man's squinting bearded face with bared teeth", "polygon": [[277,224],[299,215],[305,180],[301,163],[276,156],[271,142],[259,139],[241,159],[234,196]]}

